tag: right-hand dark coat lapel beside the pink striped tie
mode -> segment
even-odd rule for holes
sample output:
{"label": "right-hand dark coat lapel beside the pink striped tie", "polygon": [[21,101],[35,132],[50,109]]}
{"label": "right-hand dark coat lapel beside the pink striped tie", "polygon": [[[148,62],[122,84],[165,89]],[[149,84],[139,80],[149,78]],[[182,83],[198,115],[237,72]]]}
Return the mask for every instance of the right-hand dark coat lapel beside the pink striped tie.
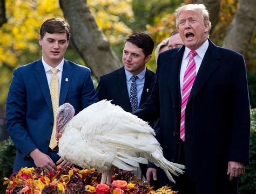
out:
{"label": "right-hand dark coat lapel beside the pink striped tie", "polygon": [[197,92],[206,83],[208,78],[211,77],[214,70],[219,66],[219,61],[217,60],[220,58],[218,47],[215,46],[210,39],[208,39],[208,41],[209,46],[199,68],[196,80],[194,81],[190,97],[188,98],[188,102],[197,94]]}

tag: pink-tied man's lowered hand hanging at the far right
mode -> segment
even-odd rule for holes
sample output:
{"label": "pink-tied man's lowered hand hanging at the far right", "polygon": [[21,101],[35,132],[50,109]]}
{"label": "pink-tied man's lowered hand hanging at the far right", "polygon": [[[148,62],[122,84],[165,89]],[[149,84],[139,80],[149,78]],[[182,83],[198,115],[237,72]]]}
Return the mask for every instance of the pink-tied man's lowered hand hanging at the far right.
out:
{"label": "pink-tied man's lowered hand hanging at the far right", "polygon": [[230,161],[227,164],[227,175],[230,175],[230,181],[233,180],[234,177],[238,177],[245,174],[244,164],[240,162]]}

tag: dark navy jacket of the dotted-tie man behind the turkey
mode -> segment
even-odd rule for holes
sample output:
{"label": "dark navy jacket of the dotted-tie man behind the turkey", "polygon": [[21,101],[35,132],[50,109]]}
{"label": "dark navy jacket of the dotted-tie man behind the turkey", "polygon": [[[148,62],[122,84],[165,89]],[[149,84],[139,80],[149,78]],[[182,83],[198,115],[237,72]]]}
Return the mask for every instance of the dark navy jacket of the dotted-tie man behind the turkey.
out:
{"label": "dark navy jacket of the dotted-tie man behind the turkey", "polygon": [[[154,79],[155,73],[146,69],[145,83],[139,105],[145,103],[149,97],[153,89]],[[112,104],[121,106],[127,112],[132,112],[124,67],[100,76],[97,95],[99,100],[112,100]]]}

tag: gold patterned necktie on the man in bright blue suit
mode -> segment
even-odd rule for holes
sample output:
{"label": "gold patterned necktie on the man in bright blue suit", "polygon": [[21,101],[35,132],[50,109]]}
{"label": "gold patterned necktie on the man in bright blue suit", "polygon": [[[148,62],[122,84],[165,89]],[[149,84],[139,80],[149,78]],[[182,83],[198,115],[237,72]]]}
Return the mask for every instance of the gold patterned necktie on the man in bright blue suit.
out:
{"label": "gold patterned necktie on the man in bright blue suit", "polygon": [[52,134],[50,140],[50,148],[54,149],[58,145],[58,141],[55,138],[56,135],[56,114],[59,107],[59,79],[57,76],[58,69],[52,68],[52,78],[50,84],[50,94],[51,94],[51,103],[52,103],[52,110],[53,110],[53,127],[52,127]]}

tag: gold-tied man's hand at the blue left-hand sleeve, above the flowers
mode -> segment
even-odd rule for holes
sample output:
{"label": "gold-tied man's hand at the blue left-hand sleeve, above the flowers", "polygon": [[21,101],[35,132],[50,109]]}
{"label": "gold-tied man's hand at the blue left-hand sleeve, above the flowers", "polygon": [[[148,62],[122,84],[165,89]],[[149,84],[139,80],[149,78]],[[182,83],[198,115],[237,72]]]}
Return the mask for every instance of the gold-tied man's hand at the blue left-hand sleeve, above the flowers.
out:
{"label": "gold-tied man's hand at the blue left-hand sleeve, above the flowers", "polygon": [[51,158],[41,152],[39,149],[34,149],[32,152],[29,153],[29,155],[32,157],[37,167],[41,167],[46,171],[50,171],[53,168],[56,168],[56,165],[51,160]]}

